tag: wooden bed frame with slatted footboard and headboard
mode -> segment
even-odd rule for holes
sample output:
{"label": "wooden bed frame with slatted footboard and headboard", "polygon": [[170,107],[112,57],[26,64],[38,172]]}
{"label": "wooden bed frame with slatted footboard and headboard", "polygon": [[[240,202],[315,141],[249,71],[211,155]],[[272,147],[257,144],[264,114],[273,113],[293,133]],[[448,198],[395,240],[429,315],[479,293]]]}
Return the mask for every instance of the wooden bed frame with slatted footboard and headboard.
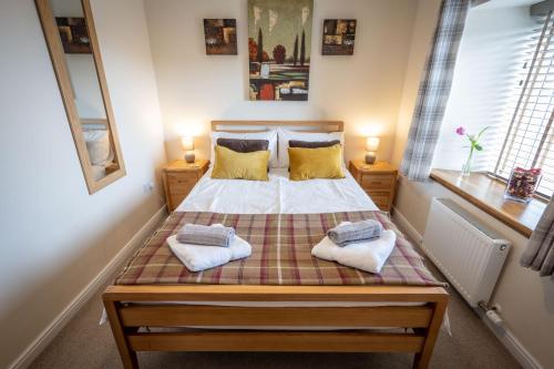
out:
{"label": "wooden bed frame with slatted footboard and headboard", "polygon": [[[219,130],[218,126],[225,129]],[[246,131],[242,127],[247,126]],[[253,126],[259,127],[258,130]],[[259,132],[269,126],[342,131],[342,122],[217,121],[213,131]],[[265,129],[264,129],[265,127]],[[413,368],[427,368],[447,309],[442,287],[424,286],[110,286],[103,294],[125,368],[138,368],[138,351],[414,352]],[[363,307],[254,307],[184,305],[187,301],[400,303]],[[168,304],[173,303],[173,304]],[[421,303],[404,305],[402,303]],[[206,329],[156,330],[142,327]],[[213,329],[209,327],[214,327]],[[230,329],[222,329],[228,327]],[[254,329],[233,329],[254,327]],[[275,327],[275,330],[256,330]],[[298,327],[285,330],[279,327]],[[329,330],[309,330],[310,328]],[[332,327],[351,327],[334,330]],[[363,327],[408,328],[379,331]],[[306,330],[300,330],[301,328]],[[356,329],[358,328],[358,330]]]}

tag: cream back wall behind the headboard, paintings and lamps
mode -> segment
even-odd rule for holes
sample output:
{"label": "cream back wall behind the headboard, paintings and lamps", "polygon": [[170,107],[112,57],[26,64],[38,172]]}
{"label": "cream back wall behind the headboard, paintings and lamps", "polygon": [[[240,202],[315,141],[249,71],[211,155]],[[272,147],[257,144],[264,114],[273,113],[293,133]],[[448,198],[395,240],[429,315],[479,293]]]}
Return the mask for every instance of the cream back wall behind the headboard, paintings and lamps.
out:
{"label": "cream back wall behind the headboard, paintings and lamps", "polygon": [[[308,102],[248,101],[246,0],[146,0],[167,153],[193,132],[208,157],[212,120],[343,120],[346,157],[362,157],[366,129],[382,135],[388,160],[417,9],[412,0],[315,0]],[[236,18],[238,55],[206,55],[203,18]],[[358,20],[353,57],[321,57],[326,18]]]}

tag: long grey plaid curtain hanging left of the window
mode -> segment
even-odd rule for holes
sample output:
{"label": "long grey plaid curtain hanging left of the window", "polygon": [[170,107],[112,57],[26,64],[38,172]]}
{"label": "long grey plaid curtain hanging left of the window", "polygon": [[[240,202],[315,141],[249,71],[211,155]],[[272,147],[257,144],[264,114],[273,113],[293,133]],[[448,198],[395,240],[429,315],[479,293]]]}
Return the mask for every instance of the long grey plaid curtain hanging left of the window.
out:
{"label": "long grey plaid curtain hanging left of the window", "polygon": [[409,180],[429,178],[469,7],[469,0],[442,2],[400,166]]}

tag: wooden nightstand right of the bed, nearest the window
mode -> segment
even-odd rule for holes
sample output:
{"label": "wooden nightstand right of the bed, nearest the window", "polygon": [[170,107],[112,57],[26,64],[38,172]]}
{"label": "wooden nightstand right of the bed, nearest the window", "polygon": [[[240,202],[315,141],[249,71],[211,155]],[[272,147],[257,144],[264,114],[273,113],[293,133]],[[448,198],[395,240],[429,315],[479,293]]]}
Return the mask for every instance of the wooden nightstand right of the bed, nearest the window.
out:
{"label": "wooden nightstand right of the bed, nearest the window", "polygon": [[396,167],[386,162],[366,164],[363,160],[353,160],[350,173],[381,211],[390,212],[397,188]]}

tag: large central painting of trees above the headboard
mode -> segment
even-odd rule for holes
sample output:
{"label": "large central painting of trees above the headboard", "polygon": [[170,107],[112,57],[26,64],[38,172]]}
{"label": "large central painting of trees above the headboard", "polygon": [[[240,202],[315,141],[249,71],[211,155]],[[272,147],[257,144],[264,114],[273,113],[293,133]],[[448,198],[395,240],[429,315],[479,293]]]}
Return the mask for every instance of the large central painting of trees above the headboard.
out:
{"label": "large central painting of trees above the headboard", "polygon": [[248,0],[250,100],[307,101],[314,0]]}

